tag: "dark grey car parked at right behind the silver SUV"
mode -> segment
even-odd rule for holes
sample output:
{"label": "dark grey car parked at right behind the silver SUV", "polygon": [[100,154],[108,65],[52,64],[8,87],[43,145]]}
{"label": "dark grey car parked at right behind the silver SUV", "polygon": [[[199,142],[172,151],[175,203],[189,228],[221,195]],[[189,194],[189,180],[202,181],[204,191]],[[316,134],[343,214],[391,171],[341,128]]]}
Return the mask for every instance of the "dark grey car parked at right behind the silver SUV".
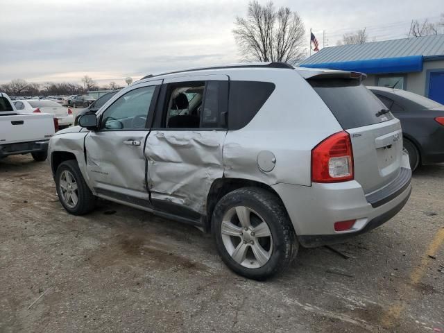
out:
{"label": "dark grey car parked at right behind the silver SUV", "polygon": [[400,119],[412,170],[444,162],[444,105],[402,89],[368,89]]}

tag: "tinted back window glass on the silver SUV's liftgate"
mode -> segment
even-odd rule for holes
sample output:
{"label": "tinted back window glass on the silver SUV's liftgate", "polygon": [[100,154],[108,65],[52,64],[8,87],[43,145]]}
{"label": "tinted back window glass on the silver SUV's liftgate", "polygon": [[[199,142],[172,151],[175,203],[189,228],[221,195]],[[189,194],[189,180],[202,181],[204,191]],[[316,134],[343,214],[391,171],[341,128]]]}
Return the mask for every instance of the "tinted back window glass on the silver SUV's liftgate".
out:
{"label": "tinted back window glass on the silver SUV's liftgate", "polygon": [[373,125],[393,119],[386,106],[359,80],[348,78],[312,78],[307,80],[330,108],[344,130]]}

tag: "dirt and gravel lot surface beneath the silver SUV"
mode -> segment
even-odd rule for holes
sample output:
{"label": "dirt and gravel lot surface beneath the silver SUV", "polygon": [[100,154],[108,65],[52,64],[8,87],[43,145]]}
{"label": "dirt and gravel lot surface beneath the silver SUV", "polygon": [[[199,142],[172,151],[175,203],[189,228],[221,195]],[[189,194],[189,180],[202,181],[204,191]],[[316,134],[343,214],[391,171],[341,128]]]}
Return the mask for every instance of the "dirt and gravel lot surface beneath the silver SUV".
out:
{"label": "dirt and gravel lot surface beneath the silver SUV", "polygon": [[191,226],[106,201],[67,214],[45,162],[8,157],[0,332],[444,332],[443,185],[444,165],[420,169],[398,216],[334,246],[348,259],[302,248],[255,282]]}

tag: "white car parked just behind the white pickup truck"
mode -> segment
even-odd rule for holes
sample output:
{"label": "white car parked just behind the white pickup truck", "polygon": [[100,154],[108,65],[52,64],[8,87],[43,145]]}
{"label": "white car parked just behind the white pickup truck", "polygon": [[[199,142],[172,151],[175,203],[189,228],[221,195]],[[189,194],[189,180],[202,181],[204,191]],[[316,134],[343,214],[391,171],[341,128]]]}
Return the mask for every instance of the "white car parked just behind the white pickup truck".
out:
{"label": "white car parked just behind the white pickup truck", "polygon": [[59,128],[67,128],[74,123],[71,109],[65,108],[55,101],[49,99],[30,99],[14,101],[15,108],[19,113],[50,113],[57,117]]}

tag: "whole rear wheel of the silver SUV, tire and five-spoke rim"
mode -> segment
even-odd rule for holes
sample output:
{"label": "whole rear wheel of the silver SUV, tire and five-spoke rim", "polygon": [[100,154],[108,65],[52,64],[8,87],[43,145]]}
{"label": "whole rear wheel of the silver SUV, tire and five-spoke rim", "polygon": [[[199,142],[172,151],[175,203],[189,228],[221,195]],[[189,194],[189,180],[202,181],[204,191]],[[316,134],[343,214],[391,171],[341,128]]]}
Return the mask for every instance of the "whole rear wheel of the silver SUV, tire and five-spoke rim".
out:
{"label": "whole rear wheel of the silver SUV, tire and five-spoke rim", "polygon": [[245,187],[221,198],[212,216],[212,231],[223,262],[254,280],[284,271],[298,251],[284,206],[264,189]]}

